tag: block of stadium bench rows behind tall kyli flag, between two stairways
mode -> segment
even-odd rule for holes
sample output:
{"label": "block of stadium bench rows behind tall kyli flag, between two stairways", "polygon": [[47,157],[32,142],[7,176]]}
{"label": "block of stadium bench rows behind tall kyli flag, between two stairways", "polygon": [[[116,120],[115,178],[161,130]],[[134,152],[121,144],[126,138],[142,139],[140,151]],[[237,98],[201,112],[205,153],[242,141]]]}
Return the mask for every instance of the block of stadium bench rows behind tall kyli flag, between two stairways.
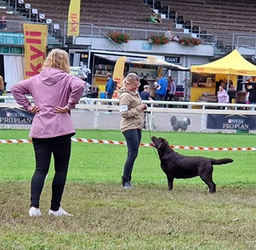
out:
{"label": "block of stadium bench rows behind tall kyli flag, between two stairways", "polygon": [[[69,0],[38,1],[26,0],[31,7],[38,9],[45,14],[46,19],[53,23],[59,23],[61,30],[64,30],[64,23],[67,22],[69,11]],[[163,23],[149,23],[151,7],[143,4],[142,0],[99,0],[81,1],[80,23],[93,23],[98,27],[123,27],[156,29],[166,31],[167,27],[173,25],[173,20],[165,20]]]}

